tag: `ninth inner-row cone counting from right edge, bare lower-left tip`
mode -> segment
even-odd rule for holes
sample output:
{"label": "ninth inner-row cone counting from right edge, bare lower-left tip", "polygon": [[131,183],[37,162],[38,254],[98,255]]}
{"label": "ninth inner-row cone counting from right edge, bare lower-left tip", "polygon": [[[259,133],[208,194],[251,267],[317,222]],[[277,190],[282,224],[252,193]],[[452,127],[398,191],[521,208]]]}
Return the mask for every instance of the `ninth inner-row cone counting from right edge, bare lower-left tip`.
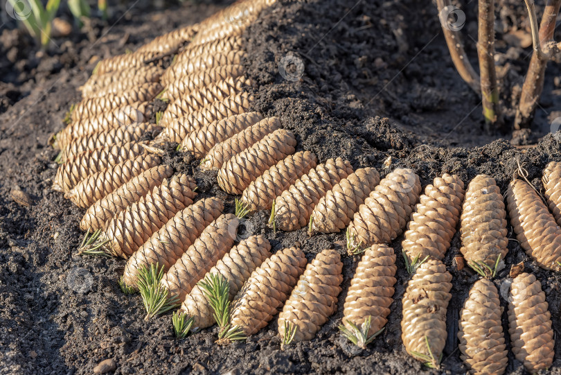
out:
{"label": "ninth inner-row cone counting from right edge, bare lower-left tip", "polygon": [[292,132],[275,130],[224,164],[216,177],[218,185],[226,193],[241,194],[263,172],[292,155],[295,146]]}

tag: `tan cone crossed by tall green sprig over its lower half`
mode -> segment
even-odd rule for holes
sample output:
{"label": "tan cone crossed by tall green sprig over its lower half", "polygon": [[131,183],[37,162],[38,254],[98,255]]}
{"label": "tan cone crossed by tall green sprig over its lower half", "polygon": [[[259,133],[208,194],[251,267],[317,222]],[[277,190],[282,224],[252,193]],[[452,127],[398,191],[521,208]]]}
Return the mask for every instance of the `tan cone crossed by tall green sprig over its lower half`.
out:
{"label": "tan cone crossed by tall green sprig over its lower half", "polygon": [[[271,256],[271,244],[263,236],[251,236],[242,240],[206,274],[217,274],[229,282],[229,299],[232,300],[265,259]],[[206,275],[204,276],[206,277]],[[204,279],[203,277],[203,279]],[[196,285],[185,297],[181,311],[195,318],[194,327],[206,328],[215,323],[214,311],[202,288]]]}

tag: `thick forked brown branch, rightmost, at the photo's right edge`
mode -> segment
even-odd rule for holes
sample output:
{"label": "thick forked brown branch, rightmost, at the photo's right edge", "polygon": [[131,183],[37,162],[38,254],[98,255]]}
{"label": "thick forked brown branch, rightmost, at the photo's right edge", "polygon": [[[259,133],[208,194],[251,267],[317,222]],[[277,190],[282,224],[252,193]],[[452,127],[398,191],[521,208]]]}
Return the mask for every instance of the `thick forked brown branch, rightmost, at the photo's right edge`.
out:
{"label": "thick forked brown branch, rightmost, at the photo's right edge", "polygon": [[547,62],[560,51],[560,44],[553,41],[555,21],[561,6],[561,0],[548,0],[542,16],[540,29],[537,29],[537,17],[533,0],[524,0],[532,29],[534,52],[522,86],[520,103],[516,112],[515,129],[530,128],[537,102],[544,90],[544,77]]}

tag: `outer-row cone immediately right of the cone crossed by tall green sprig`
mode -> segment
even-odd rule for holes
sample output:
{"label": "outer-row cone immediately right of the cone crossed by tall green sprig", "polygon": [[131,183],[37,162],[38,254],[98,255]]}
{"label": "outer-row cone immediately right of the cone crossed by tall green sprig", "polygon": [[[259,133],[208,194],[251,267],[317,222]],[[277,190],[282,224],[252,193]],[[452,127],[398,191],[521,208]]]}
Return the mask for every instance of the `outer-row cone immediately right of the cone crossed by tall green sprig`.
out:
{"label": "outer-row cone immediately right of the cone crossed by tall green sprig", "polygon": [[306,257],[296,247],[283,249],[251,274],[232,303],[231,324],[245,335],[258,333],[283,306],[304,272]]}

